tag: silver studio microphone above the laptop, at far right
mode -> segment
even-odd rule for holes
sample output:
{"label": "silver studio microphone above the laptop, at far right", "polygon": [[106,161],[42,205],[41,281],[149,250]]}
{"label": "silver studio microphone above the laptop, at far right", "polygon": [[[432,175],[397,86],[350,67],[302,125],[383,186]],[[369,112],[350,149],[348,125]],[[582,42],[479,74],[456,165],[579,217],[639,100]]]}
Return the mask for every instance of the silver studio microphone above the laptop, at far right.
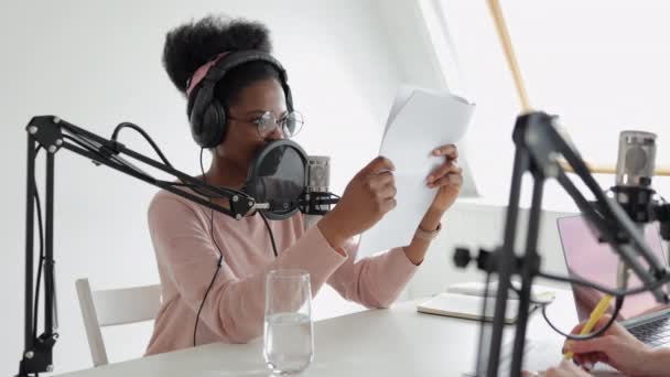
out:
{"label": "silver studio microphone above the laptop, at far right", "polygon": [[655,191],[651,179],[656,165],[656,134],[622,131],[616,163],[616,183],[612,187],[617,203],[637,224],[653,219]]}

